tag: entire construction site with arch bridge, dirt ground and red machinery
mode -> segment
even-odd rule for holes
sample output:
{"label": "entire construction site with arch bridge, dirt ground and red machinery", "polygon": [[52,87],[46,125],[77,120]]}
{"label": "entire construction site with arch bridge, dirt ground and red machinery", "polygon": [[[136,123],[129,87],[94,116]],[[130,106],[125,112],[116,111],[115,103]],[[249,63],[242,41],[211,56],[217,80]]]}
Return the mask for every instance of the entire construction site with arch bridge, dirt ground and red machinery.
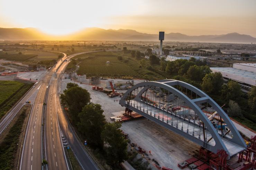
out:
{"label": "entire construction site with arch bridge, dirt ground and red machinery", "polygon": [[[76,83],[90,92],[92,102],[101,104],[108,122],[122,122],[130,147],[155,169],[256,168],[255,132],[234,126],[203,92],[173,84],[175,90],[170,90],[144,80],[97,81]],[[68,82],[74,81],[63,79],[61,92]]]}

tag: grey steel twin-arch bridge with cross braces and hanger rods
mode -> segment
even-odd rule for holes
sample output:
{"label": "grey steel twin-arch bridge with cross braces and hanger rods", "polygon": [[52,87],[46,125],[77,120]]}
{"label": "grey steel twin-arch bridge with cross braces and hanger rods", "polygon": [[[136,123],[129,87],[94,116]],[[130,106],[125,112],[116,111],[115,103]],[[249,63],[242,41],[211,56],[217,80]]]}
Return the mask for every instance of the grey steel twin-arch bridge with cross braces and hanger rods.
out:
{"label": "grey steel twin-arch bridge with cross braces and hanger rods", "polygon": [[[172,87],[175,85],[179,85],[181,87],[189,89],[189,90],[193,91],[194,93],[196,93],[200,97],[196,98],[196,99],[190,99],[188,96],[183,94],[181,91]],[[187,103],[189,105],[189,107],[191,109],[193,109],[194,112],[196,112],[196,114],[198,115],[200,120],[207,127],[207,130],[211,133],[211,137],[215,141],[215,145],[213,146],[213,145],[209,144],[207,140],[204,140],[204,141],[201,140],[200,134],[199,134],[199,138],[197,138],[194,135],[191,135],[188,132],[183,131],[183,129],[181,130],[181,129],[178,129],[177,127],[172,126],[171,124],[168,123],[168,119],[167,119],[167,122],[164,122],[164,119],[160,120],[153,116],[150,116],[148,113],[146,113],[136,107],[133,107],[130,103],[128,103],[126,101],[126,98],[130,95],[130,93],[133,90],[141,88],[140,92],[138,92],[138,94],[134,100],[136,100],[138,102],[142,102],[139,98],[150,87],[160,87],[162,89],[168,90],[171,93],[175,94],[180,99],[182,99],[185,103]],[[225,135],[218,133],[218,131],[213,127],[212,123],[209,121],[207,116],[205,116],[205,114],[202,112],[202,110],[197,105],[197,104],[204,103],[204,102],[208,102],[212,106],[212,108],[214,110],[216,110],[218,112],[218,114],[222,117],[222,119],[225,121],[225,123],[227,124],[227,126],[229,127],[229,129],[231,130],[231,132],[233,134],[232,138],[228,138]],[[211,99],[207,94],[205,94],[200,89],[192,86],[191,84],[188,84],[188,83],[185,83],[182,81],[178,81],[178,80],[168,80],[168,79],[138,83],[135,86],[133,86],[132,88],[127,90],[127,92],[124,94],[124,96],[119,101],[119,104],[121,104],[121,106],[124,106],[130,110],[133,110],[133,111],[143,115],[144,117],[146,117],[150,120],[155,121],[156,123],[160,124],[161,126],[164,126],[167,129],[172,130],[173,132],[199,144],[200,146],[202,146],[214,153],[217,153],[217,150],[223,149],[229,153],[229,156],[233,156],[233,155],[237,154],[238,152],[246,149],[246,144],[245,144],[243,138],[241,137],[238,130],[236,129],[236,127],[234,126],[232,121],[229,119],[227,114],[221,109],[221,107],[213,99]],[[188,121],[188,124],[189,123],[190,122]],[[200,130],[201,130],[201,127],[200,127]]]}

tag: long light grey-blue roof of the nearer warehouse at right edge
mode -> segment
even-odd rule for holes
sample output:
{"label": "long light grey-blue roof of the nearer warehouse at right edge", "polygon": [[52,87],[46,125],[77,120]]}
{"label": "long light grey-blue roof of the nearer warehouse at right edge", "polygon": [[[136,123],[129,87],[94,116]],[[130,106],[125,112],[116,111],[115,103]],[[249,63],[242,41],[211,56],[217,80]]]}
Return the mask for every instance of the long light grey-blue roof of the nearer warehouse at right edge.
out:
{"label": "long light grey-blue roof of the nearer warehouse at right edge", "polygon": [[213,70],[214,72],[225,72],[236,76],[256,80],[256,73],[251,71],[240,70],[230,67],[211,67],[211,70]]}

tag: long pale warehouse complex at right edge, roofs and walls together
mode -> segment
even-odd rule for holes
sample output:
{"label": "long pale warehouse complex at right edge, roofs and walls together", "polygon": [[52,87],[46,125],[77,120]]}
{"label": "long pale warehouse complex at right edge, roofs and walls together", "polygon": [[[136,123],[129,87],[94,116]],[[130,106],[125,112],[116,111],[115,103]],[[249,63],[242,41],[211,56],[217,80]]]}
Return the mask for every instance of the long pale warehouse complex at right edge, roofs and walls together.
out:
{"label": "long pale warehouse complex at right edge, roofs and walls together", "polygon": [[245,86],[256,86],[256,64],[234,63],[230,67],[211,67],[212,72],[220,72],[224,79],[237,81]]}

